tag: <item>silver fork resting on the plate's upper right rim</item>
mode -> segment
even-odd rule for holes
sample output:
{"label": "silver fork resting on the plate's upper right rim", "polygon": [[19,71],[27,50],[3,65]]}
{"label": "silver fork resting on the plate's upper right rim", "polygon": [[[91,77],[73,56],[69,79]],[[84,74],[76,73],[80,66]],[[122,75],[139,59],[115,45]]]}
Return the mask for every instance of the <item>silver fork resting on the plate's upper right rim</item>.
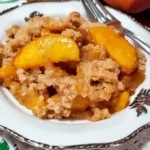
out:
{"label": "silver fork resting on the plate's upper right rim", "polygon": [[[140,46],[143,45],[148,48],[144,50],[150,54],[150,45],[145,43],[145,41],[139,37],[138,35],[135,35],[130,30],[124,28],[121,25],[121,22],[117,20],[102,4],[99,0],[82,0],[83,4],[87,7],[87,9],[91,12],[91,14],[94,16],[96,20],[98,20],[101,23],[112,25],[115,28],[119,29],[124,35],[131,38],[137,45],[140,44]],[[143,45],[142,45],[143,44]]]}

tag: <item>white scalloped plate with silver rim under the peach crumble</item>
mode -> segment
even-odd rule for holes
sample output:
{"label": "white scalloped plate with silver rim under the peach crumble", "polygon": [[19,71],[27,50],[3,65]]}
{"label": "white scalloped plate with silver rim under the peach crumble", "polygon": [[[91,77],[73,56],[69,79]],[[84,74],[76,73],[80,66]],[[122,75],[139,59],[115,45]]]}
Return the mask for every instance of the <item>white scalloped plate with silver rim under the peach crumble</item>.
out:
{"label": "white scalloped plate with silver rim under the peach crumble", "polygon": [[[138,33],[148,42],[148,39],[150,39],[148,31],[140,27],[128,16],[113,9],[108,9],[119,18],[126,28]],[[24,24],[24,18],[28,17],[33,11],[39,11],[52,17],[65,17],[72,11],[78,11],[83,17],[88,18],[80,2],[50,2],[23,5],[0,16],[0,41],[4,41],[6,38],[5,29],[8,29],[13,24]],[[148,59],[149,55],[146,53],[145,55]],[[150,88],[149,67],[150,59],[148,59],[146,66],[147,78],[137,89],[136,94],[131,98],[131,102],[134,101],[142,88]],[[150,107],[144,106],[148,112],[147,114],[143,113],[140,117],[137,117],[136,109],[127,107],[125,110],[113,115],[111,119],[95,123],[87,121],[61,122],[57,120],[40,120],[18,104],[14,97],[1,87],[0,128],[23,142],[42,148],[59,149],[66,146],[77,149],[109,147],[127,141],[144,128],[150,126]]]}

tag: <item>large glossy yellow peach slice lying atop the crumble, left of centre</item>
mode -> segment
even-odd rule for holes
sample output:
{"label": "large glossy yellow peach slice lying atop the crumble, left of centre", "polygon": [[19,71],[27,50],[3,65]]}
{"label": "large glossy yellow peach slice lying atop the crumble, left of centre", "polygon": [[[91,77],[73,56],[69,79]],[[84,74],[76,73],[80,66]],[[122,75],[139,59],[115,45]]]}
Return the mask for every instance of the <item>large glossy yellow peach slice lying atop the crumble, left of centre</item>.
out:
{"label": "large glossy yellow peach slice lying atop the crumble, left of centre", "polygon": [[45,66],[49,62],[79,60],[79,48],[70,37],[50,34],[23,47],[14,58],[13,65],[16,68],[28,69]]}

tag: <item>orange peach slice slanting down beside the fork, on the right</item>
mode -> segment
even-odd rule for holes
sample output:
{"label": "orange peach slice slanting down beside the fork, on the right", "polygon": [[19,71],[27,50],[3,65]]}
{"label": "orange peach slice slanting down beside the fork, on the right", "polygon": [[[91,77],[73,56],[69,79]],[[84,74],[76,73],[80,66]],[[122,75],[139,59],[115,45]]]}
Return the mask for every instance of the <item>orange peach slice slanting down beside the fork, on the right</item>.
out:
{"label": "orange peach slice slanting down beside the fork, on the right", "polygon": [[89,34],[96,44],[106,47],[108,55],[125,73],[134,71],[137,64],[136,49],[121,34],[110,27],[94,27],[89,30]]}

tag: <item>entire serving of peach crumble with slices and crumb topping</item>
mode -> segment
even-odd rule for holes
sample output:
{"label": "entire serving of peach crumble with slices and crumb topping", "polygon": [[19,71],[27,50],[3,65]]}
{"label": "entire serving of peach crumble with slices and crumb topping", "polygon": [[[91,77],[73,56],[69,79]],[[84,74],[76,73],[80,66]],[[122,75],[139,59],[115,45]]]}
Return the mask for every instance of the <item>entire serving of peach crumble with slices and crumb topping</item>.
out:
{"label": "entire serving of peach crumble with slices and crumb topping", "polygon": [[36,16],[6,33],[0,83],[42,119],[110,118],[145,79],[144,54],[118,30],[78,12]]}

